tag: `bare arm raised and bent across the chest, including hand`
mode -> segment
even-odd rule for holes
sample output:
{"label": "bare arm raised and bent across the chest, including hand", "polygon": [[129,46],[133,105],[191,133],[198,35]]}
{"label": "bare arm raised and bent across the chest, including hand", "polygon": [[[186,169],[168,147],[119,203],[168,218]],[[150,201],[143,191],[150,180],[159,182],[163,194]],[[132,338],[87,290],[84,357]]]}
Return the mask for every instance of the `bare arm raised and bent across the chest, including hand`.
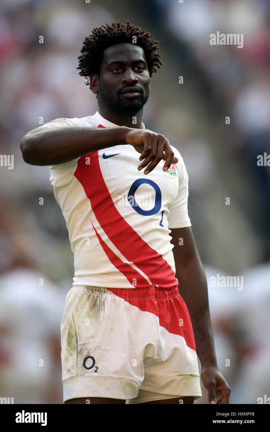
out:
{"label": "bare arm raised and bent across the chest, including hand", "polygon": [[[22,138],[23,160],[31,165],[60,165],[87,153],[120,144],[130,144],[143,153],[138,169],[152,171],[165,159],[164,171],[178,162],[167,138],[148,129],[130,127],[41,127],[30,130]],[[142,160],[140,159],[140,160]]]}

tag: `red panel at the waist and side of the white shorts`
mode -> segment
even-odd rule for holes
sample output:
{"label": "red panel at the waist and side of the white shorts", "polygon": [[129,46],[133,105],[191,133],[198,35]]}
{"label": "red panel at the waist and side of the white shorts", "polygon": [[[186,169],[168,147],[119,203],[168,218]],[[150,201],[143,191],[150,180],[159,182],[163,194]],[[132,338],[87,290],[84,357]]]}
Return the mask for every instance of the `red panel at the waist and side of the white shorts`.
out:
{"label": "red panel at the waist and side of the white shorts", "polygon": [[[147,301],[143,301],[143,299],[138,298],[139,296],[136,296],[136,292],[133,290],[132,293],[130,293],[129,289],[107,289],[115,295],[118,295],[118,297],[123,298],[130,305],[136,306],[141,311],[150,312],[159,317],[160,326],[168,330],[169,333],[178,334],[179,336],[184,337],[187,346],[196,351],[190,314],[181,295],[166,299],[159,298],[157,301],[154,298],[148,298]],[[179,321],[179,319],[182,321]],[[179,323],[181,325],[179,325]]]}

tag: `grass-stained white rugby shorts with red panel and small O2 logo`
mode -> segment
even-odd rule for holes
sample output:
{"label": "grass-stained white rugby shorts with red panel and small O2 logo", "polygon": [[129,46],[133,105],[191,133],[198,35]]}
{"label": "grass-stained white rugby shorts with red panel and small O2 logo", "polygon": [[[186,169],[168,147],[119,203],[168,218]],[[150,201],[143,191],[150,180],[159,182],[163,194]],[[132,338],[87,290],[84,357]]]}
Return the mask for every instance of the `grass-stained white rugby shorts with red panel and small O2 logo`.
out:
{"label": "grass-stained white rugby shorts with red panel and small O2 logo", "polygon": [[202,396],[191,319],[177,287],[73,286],[61,347],[64,402]]}

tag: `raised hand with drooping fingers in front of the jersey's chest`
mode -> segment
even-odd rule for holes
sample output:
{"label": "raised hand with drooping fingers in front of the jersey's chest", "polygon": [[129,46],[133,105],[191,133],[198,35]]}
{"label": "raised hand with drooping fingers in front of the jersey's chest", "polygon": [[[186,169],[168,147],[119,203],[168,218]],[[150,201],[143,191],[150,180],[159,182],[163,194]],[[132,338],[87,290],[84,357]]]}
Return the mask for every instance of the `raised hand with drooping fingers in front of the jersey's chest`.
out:
{"label": "raised hand with drooping fingers in front of the jersey's chest", "polygon": [[167,138],[160,133],[152,132],[149,129],[129,128],[125,135],[125,142],[141,153],[139,159],[143,162],[138,166],[138,170],[146,167],[144,174],[151,172],[162,159],[165,160],[163,171],[167,171],[172,162],[178,162]]}

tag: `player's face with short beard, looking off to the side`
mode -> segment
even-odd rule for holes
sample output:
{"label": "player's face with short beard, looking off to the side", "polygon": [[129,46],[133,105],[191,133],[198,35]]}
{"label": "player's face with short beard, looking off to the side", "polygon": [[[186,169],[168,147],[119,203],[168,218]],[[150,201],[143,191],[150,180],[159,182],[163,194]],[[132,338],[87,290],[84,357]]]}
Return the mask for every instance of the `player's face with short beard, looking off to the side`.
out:
{"label": "player's face with short beard, looking off to the side", "polygon": [[131,115],[143,108],[149,92],[150,76],[143,48],[131,43],[106,48],[99,73],[98,98],[118,114]]}

